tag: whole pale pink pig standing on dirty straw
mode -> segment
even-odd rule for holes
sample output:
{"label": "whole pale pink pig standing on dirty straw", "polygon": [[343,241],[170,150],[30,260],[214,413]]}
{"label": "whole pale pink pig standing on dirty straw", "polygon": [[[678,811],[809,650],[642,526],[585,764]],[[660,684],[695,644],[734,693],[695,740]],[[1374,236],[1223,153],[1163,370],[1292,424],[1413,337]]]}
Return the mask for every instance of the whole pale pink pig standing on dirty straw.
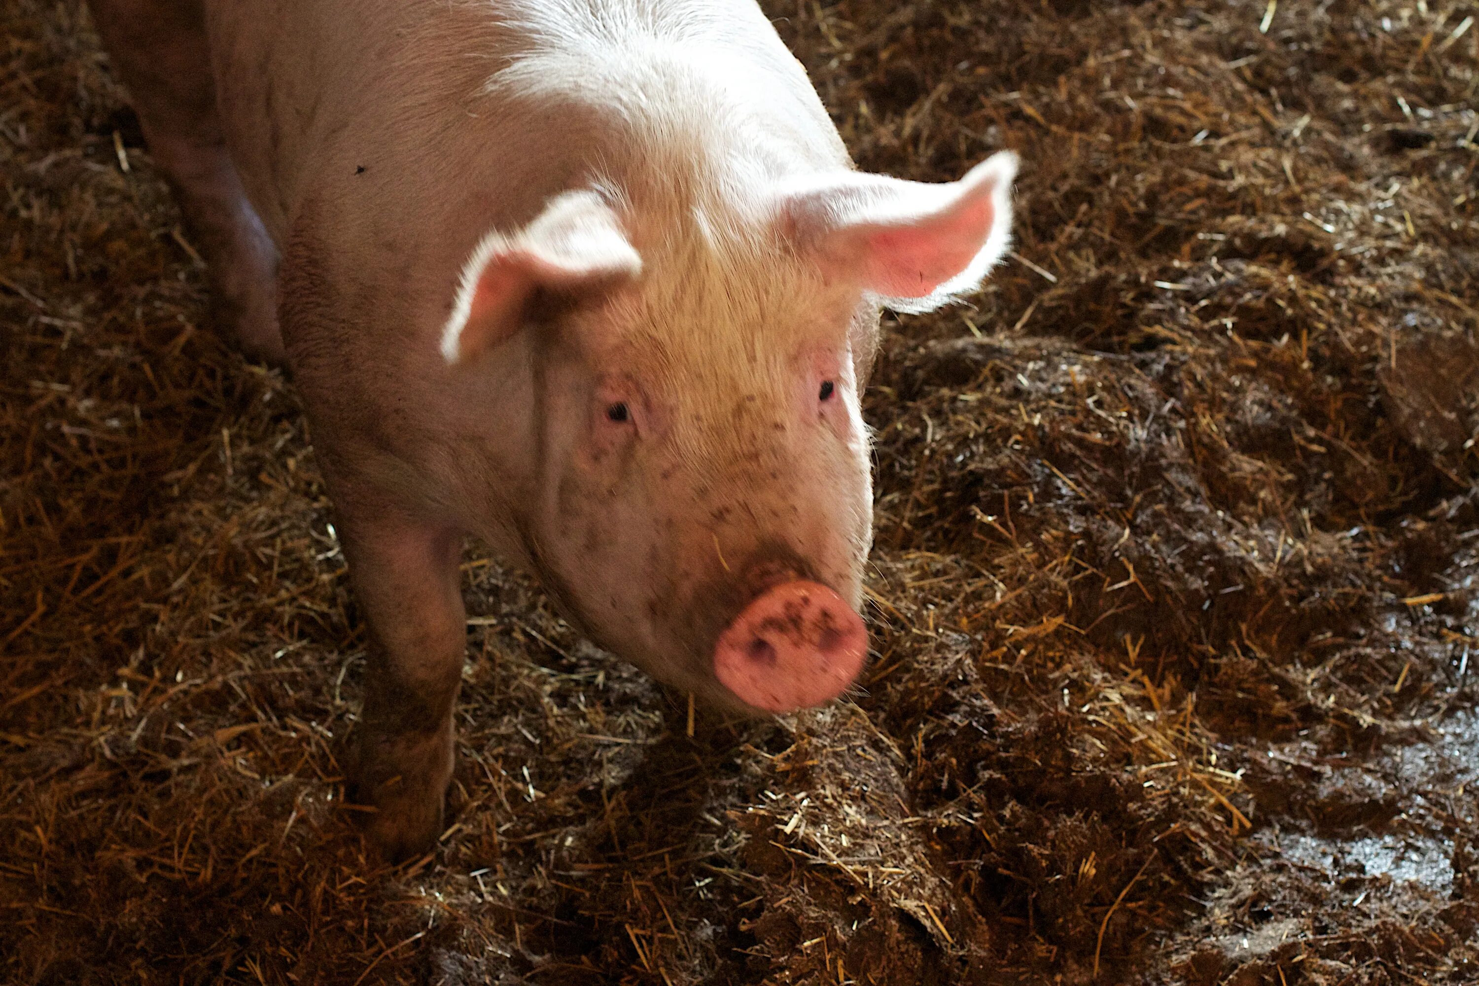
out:
{"label": "whole pale pink pig standing on dirty straw", "polygon": [[880,309],[979,285],[1012,154],[859,173],[753,0],[90,6],[220,321],[302,393],[382,853],[442,831],[466,537],[704,702],[852,686]]}

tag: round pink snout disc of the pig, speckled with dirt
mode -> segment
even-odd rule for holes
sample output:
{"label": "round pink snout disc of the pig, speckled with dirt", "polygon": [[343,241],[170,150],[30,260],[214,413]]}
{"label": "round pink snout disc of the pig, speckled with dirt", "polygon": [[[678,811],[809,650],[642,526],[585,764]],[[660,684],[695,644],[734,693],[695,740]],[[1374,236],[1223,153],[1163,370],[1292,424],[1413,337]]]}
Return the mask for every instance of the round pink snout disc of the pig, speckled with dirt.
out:
{"label": "round pink snout disc of the pig, speckled with dirt", "polygon": [[744,608],[714,646],[714,674],[747,705],[790,713],[842,695],[868,655],[862,616],[818,582],[791,581]]}

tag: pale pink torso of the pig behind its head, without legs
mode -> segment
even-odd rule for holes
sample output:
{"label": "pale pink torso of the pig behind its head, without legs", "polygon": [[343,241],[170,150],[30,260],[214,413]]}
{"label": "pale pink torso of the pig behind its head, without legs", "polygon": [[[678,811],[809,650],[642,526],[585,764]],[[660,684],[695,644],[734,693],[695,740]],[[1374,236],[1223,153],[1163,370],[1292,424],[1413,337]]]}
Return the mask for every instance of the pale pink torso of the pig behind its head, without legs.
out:
{"label": "pale pink torso of the pig behind its head, without legs", "polygon": [[[478,241],[598,171],[645,197],[652,239],[695,205],[722,228],[714,205],[759,200],[768,174],[846,169],[846,151],[748,1],[275,6],[209,1],[206,22],[231,157],[284,254],[284,344],[317,445],[528,563],[504,526],[537,498],[532,380],[448,374],[438,347]],[[742,90],[722,74],[737,62]],[[725,197],[701,203],[700,185]]]}

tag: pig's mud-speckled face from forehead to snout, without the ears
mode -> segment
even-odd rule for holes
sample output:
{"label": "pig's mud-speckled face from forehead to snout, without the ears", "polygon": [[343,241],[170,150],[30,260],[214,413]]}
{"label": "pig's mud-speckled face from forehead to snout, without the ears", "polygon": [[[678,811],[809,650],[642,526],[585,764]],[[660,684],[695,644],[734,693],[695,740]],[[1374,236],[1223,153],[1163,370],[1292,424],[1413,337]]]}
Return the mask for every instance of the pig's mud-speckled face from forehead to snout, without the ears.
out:
{"label": "pig's mud-speckled face from forehead to snout, without the ears", "polygon": [[[877,315],[779,253],[704,250],[645,250],[634,284],[546,327],[525,547],[602,646],[714,704],[787,711],[839,693],[867,647],[856,374]],[[815,588],[766,596],[788,584]],[[726,665],[754,606],[772,625],[731,633]]]}

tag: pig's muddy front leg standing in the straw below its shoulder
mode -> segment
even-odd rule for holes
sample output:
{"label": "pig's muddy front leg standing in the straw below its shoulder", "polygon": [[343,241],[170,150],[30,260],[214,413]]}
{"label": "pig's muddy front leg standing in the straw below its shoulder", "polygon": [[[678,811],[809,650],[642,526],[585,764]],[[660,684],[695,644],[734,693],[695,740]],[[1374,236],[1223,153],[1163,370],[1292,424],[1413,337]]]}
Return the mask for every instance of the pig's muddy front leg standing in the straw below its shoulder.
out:
{"label": "pig's muddy front leg standing in the straw below its shoulder", "polygon": [[345,556],[370,624],[351,797],[374,809],[367,829],[380,853],[401,860],[442,832],[467,634],[461,535],[393,510],[345,507]]}

